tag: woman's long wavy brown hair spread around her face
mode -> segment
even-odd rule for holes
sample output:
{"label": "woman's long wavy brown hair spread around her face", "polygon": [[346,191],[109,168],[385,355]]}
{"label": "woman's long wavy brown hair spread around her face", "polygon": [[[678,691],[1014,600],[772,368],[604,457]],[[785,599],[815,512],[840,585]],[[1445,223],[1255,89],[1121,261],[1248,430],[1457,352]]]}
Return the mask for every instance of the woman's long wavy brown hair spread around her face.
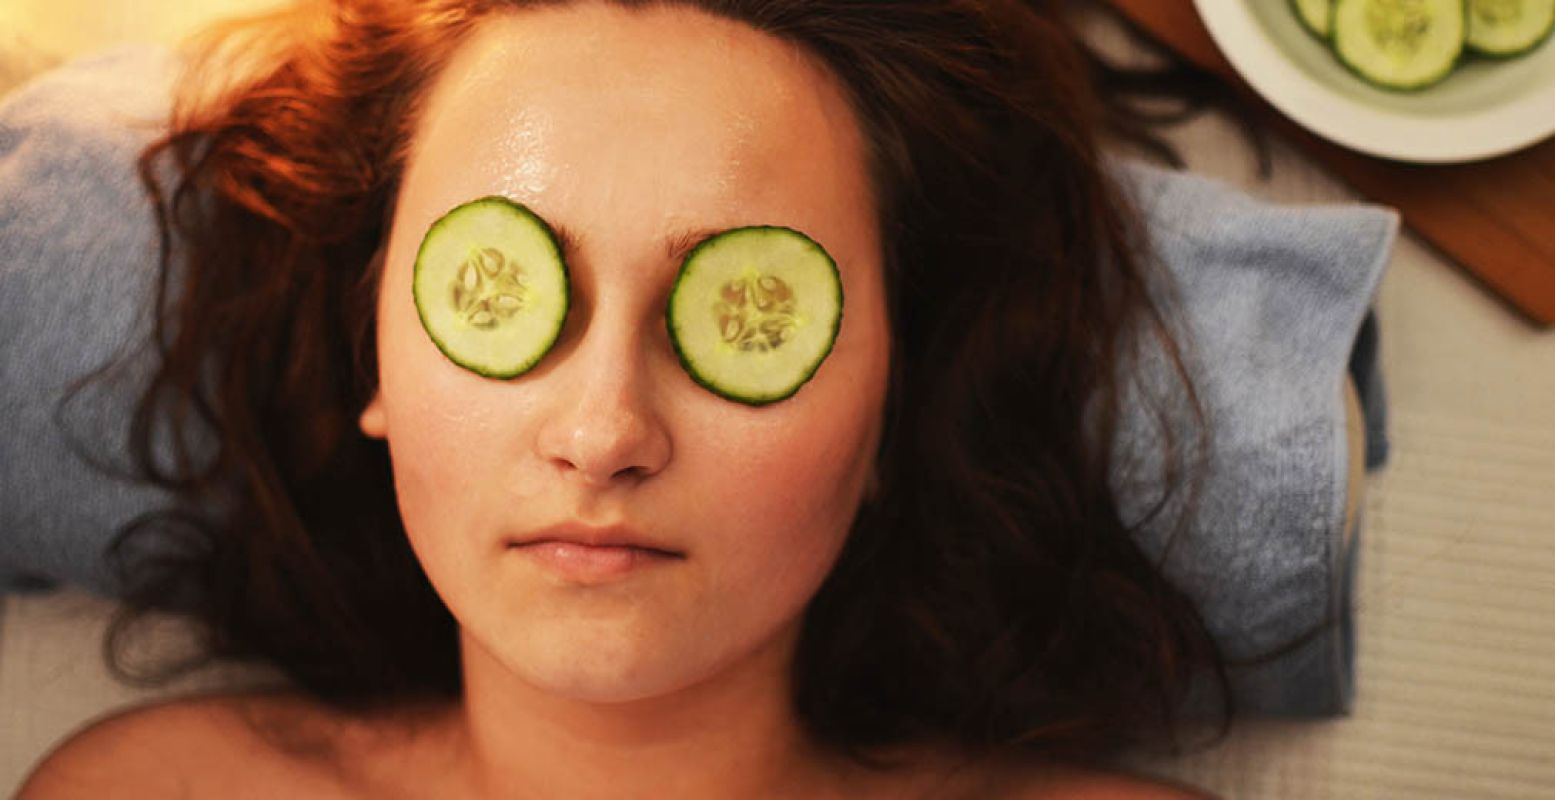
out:
{"label": "woman's long wavy brown hair spread around her face", "polygon": [[[110,641],[173,604],[208,655],[263,658],[341,708],[459,694],[456,621],[356,419],[418,101],[482,19],[555,2],[334,0],[208,40],[140,163],[162,226],[160,367],[132,447],[183,503],[123,531],[124,553],[157,557],[135,560]],[[807,607],[802,722],[858,758],[924,739],[1090,758],[1174,736],[1208,674],[1224,735],[1219,647],[1109,487],[1137,342],[1165,346],[1193,398],[1104,154],[1109,131],[1140,139],[1098,86],[1127,75],[1056,2],[681,2],[819,56],[883,198],[880,492]],[[1191,475],[1199,431],[1163,434]]]}

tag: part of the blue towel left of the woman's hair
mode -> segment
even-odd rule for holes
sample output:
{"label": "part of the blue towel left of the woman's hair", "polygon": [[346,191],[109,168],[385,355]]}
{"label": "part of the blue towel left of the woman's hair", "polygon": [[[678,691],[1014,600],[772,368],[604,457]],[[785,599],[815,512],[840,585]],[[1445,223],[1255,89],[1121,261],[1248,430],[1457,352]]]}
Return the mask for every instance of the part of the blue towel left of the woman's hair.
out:
{"label": "part of the blue towel left of the woman's hair", "polygon": [[[151,339],[156,218],[135,156],[166,125],[176,61],[120,48],[47,72],[0,104],[0,588],[120,587],[114,531],[168,495],[95,472],[128,465],[149,352],[54,414],[70,381]],[[148,347],[149,350],[149,347]]]}

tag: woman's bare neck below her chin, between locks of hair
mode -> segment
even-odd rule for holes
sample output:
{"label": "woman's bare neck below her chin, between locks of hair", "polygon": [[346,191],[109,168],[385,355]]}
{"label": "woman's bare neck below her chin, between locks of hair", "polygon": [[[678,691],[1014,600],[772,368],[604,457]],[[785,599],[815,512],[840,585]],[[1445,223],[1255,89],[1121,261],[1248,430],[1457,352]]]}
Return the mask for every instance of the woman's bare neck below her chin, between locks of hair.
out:
{"label": "woman's bare neck below her chin, between locks of hair", "polygon": [[462,635],[462,736],[474,791],[504,798],[819,797],[838,772],[793,713],[796,632],[704,682],[611,704],[541,691]]}

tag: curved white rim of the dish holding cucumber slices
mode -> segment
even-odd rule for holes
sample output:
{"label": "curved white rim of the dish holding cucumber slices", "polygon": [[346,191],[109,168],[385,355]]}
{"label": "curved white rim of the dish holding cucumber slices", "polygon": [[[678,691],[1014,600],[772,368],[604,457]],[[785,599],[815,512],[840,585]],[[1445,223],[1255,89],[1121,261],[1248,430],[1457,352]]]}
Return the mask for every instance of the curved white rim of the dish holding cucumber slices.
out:
{"label": "curved white rim of the dish holding cucumber slices", "polygon": [[[1250,3],[1255,2],[1260,0],[1193,0],[1193,5],[1210,31],[1210,39],[1236,73],[1280,114],[1330,142],[1384,159],[1463,163],[1504,156],[1555,134],[1555,112],[1543,125],[1505,125],[1508,109],[1538,107],[1541,100],[1546,101],[1544,107],[1555,109],[1555,86],[1524,95],[1516,103],[1448,120],[1406,120],[1336,93],[1280,51],[1280,44],[1253,19]],[[1300,103],[1303,100],[1326,106],[1330,112],[1312,114],[1312,106]],[[1333,111],[1336,106],[1337,112]],[[1336,125],[1333,120],[1351,120],[1351,125]],[[1354,120],[1367,125],[1358,126]],[[1396,131],[1406,125],[1407,135],[1384,135],[1390,142],[1378,142],[1375,131]]]}

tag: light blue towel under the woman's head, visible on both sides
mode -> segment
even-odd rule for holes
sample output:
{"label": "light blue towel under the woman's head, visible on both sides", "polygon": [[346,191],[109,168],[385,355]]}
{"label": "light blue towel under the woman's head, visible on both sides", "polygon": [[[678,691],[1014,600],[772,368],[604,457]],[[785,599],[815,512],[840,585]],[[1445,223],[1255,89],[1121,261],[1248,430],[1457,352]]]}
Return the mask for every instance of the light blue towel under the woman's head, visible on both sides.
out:
{"label": "light blue towel under the woman's head, visible on both sides", "polygon": [[[75,582],[117,595],[107,542],[171,501],[92,470],[64,434],[123,464],[123,423],[154,363],[149,352],[135,352],[121,380],[78,395],[62,425],[54,409],[68,381],[149,341],[156,237],[134,160],[163,123],[174,68],[166,50],[120,48],[39,76],[0,103],[0,588]],[[1180,305],[1171,310],[1197,342],[1193,372],[1216,433],[1204,504],[1168,573],[1233,655],[1280,644],[1325,615],[1348,624],[1339,381],[1347,364],[1368,370],[1358,383],[1375,386],[1368,416],[1381,425],[1375,355],[1367,361],[1354,346],[1396,216],[1361,205],[1278,207],[1135,162],[1116,168],[1177,283]],[[1146,355],[1135,389],[1169,392],[1162,355]],[[1148,467],[1157,437],[1141,408],[1126,406],[1120,451]],[[1143,517],[1155,487],[1148,476],[1120,475],[1118,487],[1124,509]],[[1163,551],[1163,532],[1141,529],[1148,554]],[[1348,711],[1351,660],[1336,627],[1270,669],[1239,675],[1241,705]]]}

